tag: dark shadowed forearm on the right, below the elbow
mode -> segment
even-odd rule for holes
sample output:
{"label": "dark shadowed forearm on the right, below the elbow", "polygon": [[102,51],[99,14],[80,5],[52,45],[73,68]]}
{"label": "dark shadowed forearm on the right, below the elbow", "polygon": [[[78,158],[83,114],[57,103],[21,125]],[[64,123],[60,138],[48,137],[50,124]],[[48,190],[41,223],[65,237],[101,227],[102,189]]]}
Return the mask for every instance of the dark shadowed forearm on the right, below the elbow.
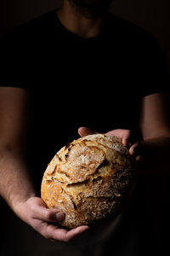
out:
{"label": "dark shadowed forearm on the right, below the elbow", "polygon": [[161,175],[170,173],[170,137],[146,139],[141,147],[142,160],[139,174]]}

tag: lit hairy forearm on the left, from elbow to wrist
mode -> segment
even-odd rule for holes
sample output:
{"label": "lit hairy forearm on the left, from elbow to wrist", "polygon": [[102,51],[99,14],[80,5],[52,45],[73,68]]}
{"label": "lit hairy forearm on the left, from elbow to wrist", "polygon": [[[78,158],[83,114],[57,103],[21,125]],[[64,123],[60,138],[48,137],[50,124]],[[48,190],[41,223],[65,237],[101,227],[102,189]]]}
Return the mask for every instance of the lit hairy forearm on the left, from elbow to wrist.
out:
{"label": "lit hairy forearm on the left, from elbow to wrist", "polygon": [[0,195],[19,215],[19,205],[35,195],[23,148],[0,149]]}

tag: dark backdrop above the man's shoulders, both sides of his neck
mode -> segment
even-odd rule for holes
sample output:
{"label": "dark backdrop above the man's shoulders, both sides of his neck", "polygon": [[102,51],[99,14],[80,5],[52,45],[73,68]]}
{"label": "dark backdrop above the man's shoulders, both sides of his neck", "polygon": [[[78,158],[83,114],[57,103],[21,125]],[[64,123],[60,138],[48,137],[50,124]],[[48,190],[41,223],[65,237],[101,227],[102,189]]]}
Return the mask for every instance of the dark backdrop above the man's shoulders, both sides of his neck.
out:
{"label": "dark backdrop above the man's shoulders, both sides of his neck", "polygon": [[[61,3],[62,0],[1,0],[0,34]],[[161,45],[170,67],[169,0],[113,0],[110,12],[149,30]]]}

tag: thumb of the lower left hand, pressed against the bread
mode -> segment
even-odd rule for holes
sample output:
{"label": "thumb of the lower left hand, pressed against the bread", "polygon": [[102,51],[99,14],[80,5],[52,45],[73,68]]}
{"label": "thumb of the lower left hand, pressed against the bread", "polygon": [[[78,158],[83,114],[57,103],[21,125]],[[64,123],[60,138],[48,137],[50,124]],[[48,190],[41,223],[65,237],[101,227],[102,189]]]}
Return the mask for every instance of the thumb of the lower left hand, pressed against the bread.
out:
{"label": "thumb of the lower left hand, pressed against the bread", "polygon": [[57,222],[65,218],[64,212],[59,209],[48,209],[34,204],[31,206],[32,218],[41,219],[47,222]]}

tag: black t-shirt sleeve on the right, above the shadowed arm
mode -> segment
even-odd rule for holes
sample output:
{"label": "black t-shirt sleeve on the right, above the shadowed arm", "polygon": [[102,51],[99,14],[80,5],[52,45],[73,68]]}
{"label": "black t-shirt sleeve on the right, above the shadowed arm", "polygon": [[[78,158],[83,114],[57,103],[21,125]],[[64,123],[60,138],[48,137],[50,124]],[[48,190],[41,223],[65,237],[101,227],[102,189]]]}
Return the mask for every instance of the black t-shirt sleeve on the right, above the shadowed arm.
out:
{"label": "black t-shirt sleeve on the right, above the shadowed arm", "polygon": [[141,66],[139,71],[140,97],[167,92],[170,74],[167,59],[155,37],[147,33],[140,45]]}

